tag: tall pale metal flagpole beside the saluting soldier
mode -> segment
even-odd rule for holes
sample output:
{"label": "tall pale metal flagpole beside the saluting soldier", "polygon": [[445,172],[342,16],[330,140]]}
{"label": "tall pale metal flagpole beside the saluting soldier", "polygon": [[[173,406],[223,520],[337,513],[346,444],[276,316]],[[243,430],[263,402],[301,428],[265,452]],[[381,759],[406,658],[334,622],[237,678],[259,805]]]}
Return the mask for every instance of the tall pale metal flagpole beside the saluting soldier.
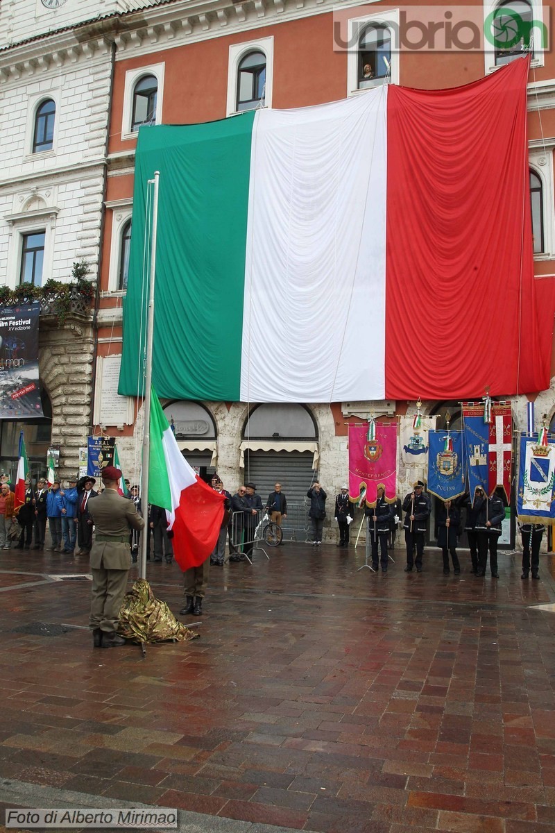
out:
{"label": "tall pale metal flagpole beside the saluting soldier", "polygon": [[154,337],[154,283],[156,275],[156,228],[158,225],[158,181],[160,172],[154,172],[154,179],[148,184],[154,184],[152,195],[152,241],[151,241],[151,272],[148,292],[148,315],[146,318],[146,362],[145,362],[145,401],[143,406],[143,436],[142,436],[142,476],[141,476],[141,510],[145,521],[145,528],[141,536],[141,561],[139,563],[139,577],[146,578],[146,553],[150,531],[148,526],[148,465],[149,448],[151,442],[151,384],[152,384],[152,342]]}

